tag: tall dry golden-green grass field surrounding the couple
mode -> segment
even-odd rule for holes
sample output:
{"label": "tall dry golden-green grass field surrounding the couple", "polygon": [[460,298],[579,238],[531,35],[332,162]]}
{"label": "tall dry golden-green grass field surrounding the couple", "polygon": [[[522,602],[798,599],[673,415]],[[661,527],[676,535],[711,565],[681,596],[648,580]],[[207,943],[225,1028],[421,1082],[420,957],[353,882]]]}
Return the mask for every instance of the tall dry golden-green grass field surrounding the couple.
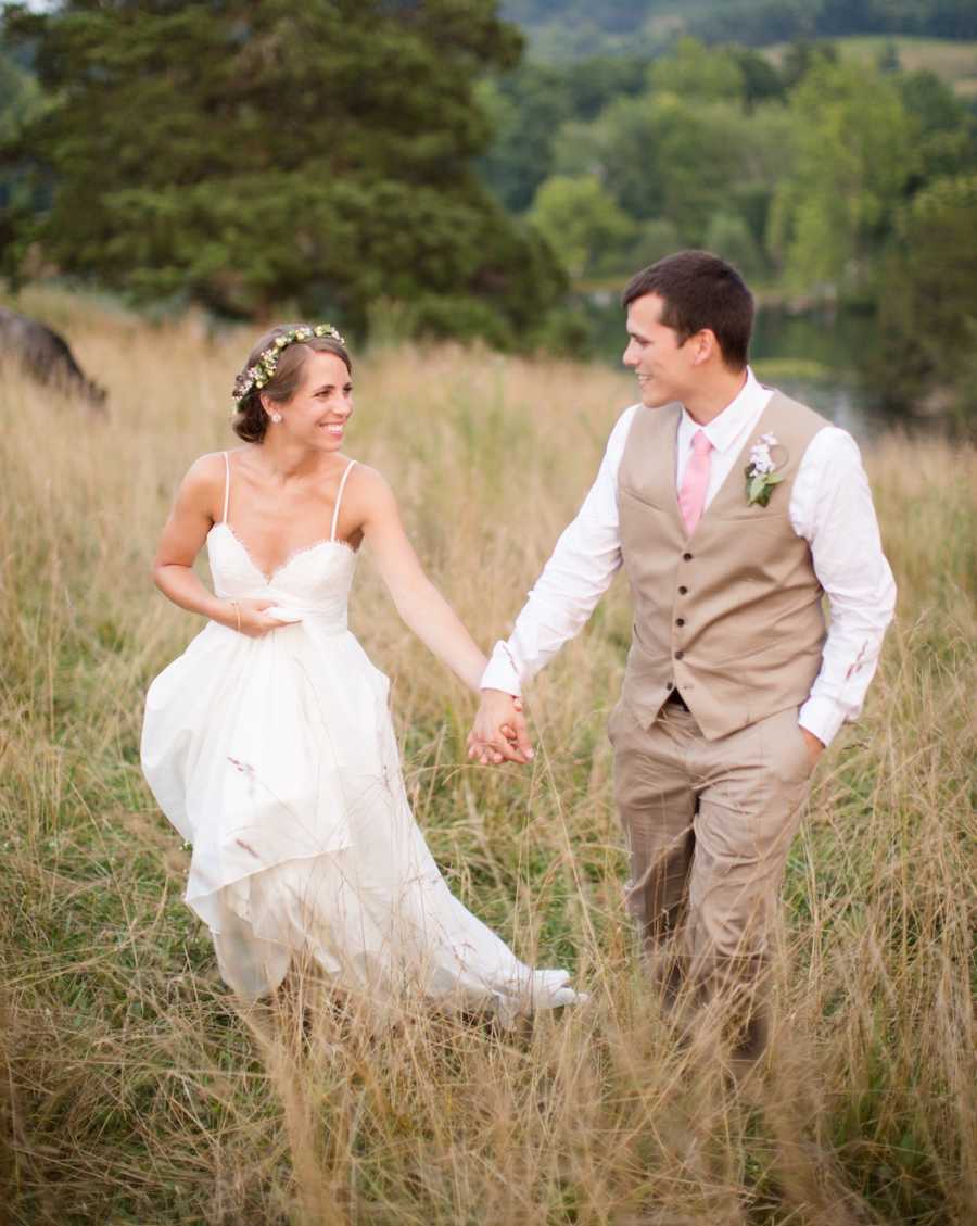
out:
{"label": "tall dry golden-green grass field surrounding the couple", "polygon": [[[539,678],[541,750],[481,771],[467,694],[369,558],[354,628],[393,679],[408,788],[452,889],[591,1000],[516,1032],[408,1009],[368,1026],[313,976],[243,1014],[180,901],[142,782],[148,680],[199,622],[150,559],[189,461],[229,445],[249,337],[27,295],[109,412],[0,385],[0,1220],[17,1226],[965,1226],[977,1215],[977,676],[971,447],[868,455],[897,622],[819,767],[785,886],[781,1022],[738,1091],[656,1011],[624,916],[604,722],[617,585]],[[629,381],[396,348],[358,371],[349,454],[400,492],[488,645],[575,510]],[[6,1216],[5,1216],[6,1215]]]}

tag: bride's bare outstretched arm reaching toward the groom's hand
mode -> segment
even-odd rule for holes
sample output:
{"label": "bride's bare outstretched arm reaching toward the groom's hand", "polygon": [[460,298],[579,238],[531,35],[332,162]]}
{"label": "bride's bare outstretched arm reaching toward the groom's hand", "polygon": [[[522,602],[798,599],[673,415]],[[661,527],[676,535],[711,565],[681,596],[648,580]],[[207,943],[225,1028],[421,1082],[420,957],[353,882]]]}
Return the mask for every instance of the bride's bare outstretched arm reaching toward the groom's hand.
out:
{"label": "bride's bare outstretched arm reaching toward the groom's hand", "polygon": [[364,465],[357,465],[352,477],[355,487],[347,499],[353,494],[351,510],[355,510],[397,613],[425,647],[477,691],[488,661],[424,574],[401,524],[393,493],[379,472]]}

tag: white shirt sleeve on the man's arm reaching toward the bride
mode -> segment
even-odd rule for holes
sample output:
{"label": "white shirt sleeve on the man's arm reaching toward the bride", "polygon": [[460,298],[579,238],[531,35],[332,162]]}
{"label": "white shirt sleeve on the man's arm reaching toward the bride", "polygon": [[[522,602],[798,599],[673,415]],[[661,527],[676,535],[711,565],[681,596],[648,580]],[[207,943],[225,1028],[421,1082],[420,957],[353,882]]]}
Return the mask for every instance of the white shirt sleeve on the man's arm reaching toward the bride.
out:
{"label": "white shirt sleeve on the man's arm reaching toward the bride", "polygon": [[597,479],[564,530],[506,641],[495,644],[482,689],[521,694],[587,622],[620,566],[618,470],[637,411],[625,409],[610,432]]}

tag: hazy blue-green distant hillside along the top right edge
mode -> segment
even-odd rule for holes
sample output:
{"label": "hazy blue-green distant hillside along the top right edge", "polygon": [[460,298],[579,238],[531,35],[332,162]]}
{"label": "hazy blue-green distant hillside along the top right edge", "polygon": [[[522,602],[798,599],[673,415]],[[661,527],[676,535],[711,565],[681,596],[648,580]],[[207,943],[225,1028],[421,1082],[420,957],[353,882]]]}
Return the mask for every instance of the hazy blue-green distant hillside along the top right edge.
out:
{"label": "hazy blue-green distant hillside along the top right edge", "polygon": [[753,47],[797,38],[977,38],[977,0],[503,0],[534,59],[653,54],[680,34]]}

